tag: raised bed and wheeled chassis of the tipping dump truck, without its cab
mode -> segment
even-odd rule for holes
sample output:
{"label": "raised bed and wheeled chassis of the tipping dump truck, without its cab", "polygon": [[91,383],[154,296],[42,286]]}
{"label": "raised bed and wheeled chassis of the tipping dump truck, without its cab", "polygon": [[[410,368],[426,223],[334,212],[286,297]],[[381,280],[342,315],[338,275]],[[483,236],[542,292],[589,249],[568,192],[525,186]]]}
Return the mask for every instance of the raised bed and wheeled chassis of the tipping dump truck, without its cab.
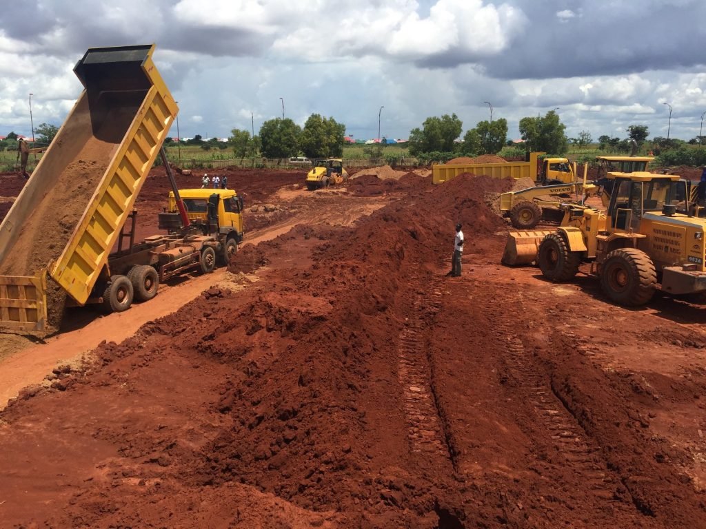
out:
{"label": "raised bed and wheeled chassis of the tipping dump truck, without its cab", "polygon": [[[0,327],[56,330],[67,303],[126,310],[172,274],[210,272],[226,251],[217,221],[190,226],[164,156],[178,108],[154,49],[91,48],[73,69],[84,90],[0,224]],[[181,231],[165,212],[172,233],[136,244],[133,205],[160,152]]]}

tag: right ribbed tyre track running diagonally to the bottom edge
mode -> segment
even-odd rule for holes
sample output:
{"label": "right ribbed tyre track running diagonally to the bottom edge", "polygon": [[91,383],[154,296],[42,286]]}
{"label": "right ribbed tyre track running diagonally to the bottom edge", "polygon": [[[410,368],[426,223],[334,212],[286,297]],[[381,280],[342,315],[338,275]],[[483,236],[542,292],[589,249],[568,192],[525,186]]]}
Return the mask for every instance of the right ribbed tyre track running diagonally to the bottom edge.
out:
{"label": "right ribbed tyre track running diagonally to the bottom edge", "polygon": [[[587,501],[580,507],[591,509],[593,519],[605,519],[606,523],[614,521],[618,513],[633,516],[635,511],[618,492],[623,490],[620,479],[607,467],[600,447],[587,437],[580,422],[554,392],[546,372],[532,359],[530,351],[513,331],[513,325],[499,314],[495,333],[505,351],[505,367],[525,389],[526,406],[534,412],[535,424],[539,430],[546,431],[563,466],[580,477],[582,486],[570,492],[570,497],[583,495]],[[544,439],[540,439],[542,441]],[[560,477],[557,481],[561,486]]]}

